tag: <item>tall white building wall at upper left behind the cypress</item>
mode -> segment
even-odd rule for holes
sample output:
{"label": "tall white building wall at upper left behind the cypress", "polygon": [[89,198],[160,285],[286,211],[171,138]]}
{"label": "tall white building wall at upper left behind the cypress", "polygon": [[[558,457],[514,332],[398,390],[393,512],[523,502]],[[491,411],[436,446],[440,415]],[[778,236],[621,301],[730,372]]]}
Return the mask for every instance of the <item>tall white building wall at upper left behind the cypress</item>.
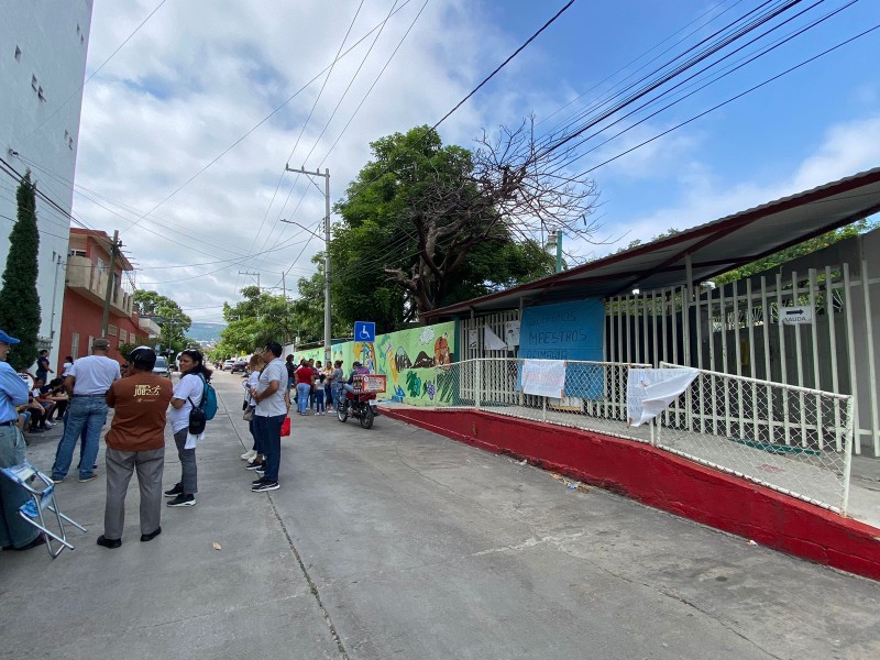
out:
{"label": "tall white building wall at upper left behind the cypress", "polygon": [[[20,174],[30,168],[37,189],[67,212],[74,195],[92,1],[0,0],[0,158]],[[16,188],[18,180],[0,169],[0,271],[6,267],[16,216]],[[36,209],[40,336],[54,334],[54,367],[69,220],[38,196]]]}

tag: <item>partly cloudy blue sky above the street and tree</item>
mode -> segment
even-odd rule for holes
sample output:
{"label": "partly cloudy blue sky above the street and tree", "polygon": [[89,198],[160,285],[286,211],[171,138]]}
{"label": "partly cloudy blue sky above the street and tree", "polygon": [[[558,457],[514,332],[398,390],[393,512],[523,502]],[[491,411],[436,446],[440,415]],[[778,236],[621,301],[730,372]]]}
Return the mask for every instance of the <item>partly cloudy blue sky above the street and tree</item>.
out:
{"label": "partly cloudy blue sky above the street and tree", "polygon": [[[601,196],[596,231],[563,242],[566,261],[880,165],[880,30],[622,155],[880,23],[880,2],[800,2],[769,25],[789,23],[725,63],[840,11],[654,117],[661,106],[607,120],[622,122],[571,165],[590,170]],[[483,130],[528,116],[539,131],[566,124],[734,19],[779,3],[578,0],[438,130],[444,143],[471,147]],[[340,200],[371,141],[435,124],[564,4],[96,2],[74,216],[119,230],[138,287],[174,298],[194,321],[222,320],[223,302],[257,283],[248,273],[295,295],[322,244],[280,220],[320,232],[324,180],[285,164],[329,169]]]}

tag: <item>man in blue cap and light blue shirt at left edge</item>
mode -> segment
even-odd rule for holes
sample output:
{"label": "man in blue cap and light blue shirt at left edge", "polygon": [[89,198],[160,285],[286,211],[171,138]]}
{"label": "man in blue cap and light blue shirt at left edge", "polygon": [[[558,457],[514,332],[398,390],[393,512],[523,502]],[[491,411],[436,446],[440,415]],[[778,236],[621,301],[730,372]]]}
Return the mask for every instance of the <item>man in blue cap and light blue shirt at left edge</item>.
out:
{"label": "man in blue cap and light blue shirt at left edge", "polygon": [[[19,343],[0,330],[0,468],[24,462],[24,437],[19,429],[15,406],[28,403],[28,385],[9,364],[7,353]],[[0,476],[0,544],[3,550],[30,550],[46,542],[35,527],[19,516],[19,507],[29,499],[18,484]]]}

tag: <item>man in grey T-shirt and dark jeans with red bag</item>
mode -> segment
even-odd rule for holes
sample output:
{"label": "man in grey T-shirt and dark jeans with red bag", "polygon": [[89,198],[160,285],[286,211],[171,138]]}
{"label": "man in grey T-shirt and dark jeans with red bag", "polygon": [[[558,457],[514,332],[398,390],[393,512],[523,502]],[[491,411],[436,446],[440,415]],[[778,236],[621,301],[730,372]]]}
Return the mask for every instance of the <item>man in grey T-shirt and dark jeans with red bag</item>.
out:
{"label": "man in grey T-shirt and dark jeans with red bag", "polygon": [[[278,469],[282,461],[282,425],[287,417],[289,404],[285,400],[287,370],[280,359],[282,345],[271,341],[263,351],[263,361],[266,365],[260,373],[257,386],[251,389],[251,396],[256,403],[254,409],[254,428],[258,438],[260,449],[266,458],[263,476],[253,482],[251,491],[265,493],[277,491]],[[298,370],[297,370],[298,371]],[[300,398],[300,406],[308,400],[308,394]]]}

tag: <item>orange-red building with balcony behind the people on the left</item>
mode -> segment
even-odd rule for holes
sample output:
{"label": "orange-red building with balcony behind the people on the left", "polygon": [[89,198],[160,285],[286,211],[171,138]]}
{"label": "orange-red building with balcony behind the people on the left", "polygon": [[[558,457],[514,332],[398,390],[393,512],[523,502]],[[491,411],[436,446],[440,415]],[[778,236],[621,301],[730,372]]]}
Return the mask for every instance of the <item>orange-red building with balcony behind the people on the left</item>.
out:
{"label": "orange-red building with balcony behind the people on the left", "polygon": [[[112,241],[100,231],[70,230],[70,249],[67,256],[64,284],[64,315],[61,333],[56,342],[58,360],[55,370],[64,363],[66,355],[74,359],[90,353],[91,340],[101,337],[103,302],[110,276]],[[158,327],[150,319],[141,319],[134,311],[131,287],[127,285],[127,272],[132,265],[124,254],[117,255],[110,295],[110,312],[107,339],[110,355],[124,358],[119,352],[121,344],[144,344],[158,333]]]}

